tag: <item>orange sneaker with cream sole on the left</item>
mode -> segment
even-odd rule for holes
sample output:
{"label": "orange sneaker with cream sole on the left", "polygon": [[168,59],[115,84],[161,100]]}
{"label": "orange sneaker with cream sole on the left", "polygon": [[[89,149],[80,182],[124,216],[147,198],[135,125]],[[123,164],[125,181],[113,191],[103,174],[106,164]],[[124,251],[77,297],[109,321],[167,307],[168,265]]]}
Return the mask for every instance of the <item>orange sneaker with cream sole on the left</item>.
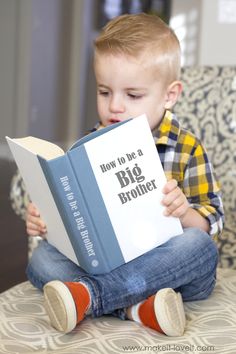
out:
{"label": "orange sneaker with cream sole on the left", "polygon": [[71,332],[90,308],[90,294],[82,283],[53,280],[44,286],[43,291],[51,325],[60,332]]}

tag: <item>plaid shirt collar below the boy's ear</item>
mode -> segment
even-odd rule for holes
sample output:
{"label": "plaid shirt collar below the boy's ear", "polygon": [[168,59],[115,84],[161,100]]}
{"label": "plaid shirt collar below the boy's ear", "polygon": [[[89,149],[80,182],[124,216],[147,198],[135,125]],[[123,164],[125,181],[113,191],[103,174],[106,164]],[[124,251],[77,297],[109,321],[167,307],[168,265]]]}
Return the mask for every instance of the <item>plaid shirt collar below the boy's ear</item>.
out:
{"label": "plaid shirt collar below the boy's ear", "polygon": [[169,145],[175,147],[180,131],[179,122],[170,111],[166,111],[159,127],[154,131],[156,145]]}

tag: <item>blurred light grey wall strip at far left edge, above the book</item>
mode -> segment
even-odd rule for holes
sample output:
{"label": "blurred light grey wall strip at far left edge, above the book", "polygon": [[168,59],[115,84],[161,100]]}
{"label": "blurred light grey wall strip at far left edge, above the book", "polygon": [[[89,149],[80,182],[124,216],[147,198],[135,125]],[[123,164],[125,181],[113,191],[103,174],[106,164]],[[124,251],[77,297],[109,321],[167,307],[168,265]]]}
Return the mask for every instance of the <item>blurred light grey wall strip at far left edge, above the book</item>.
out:
{"label": "blurred light grey wall strip at far left edge, above the book", "polygon": [[0,0],[0,156],[28,127],[31,0]]}

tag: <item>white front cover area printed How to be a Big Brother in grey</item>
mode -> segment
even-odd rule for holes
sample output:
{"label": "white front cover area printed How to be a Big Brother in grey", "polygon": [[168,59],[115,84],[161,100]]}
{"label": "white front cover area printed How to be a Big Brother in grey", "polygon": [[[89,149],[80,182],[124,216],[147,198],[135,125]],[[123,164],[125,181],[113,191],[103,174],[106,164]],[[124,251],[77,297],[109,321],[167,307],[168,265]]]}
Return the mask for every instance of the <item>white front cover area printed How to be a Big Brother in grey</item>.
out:
{"label": "white front cover area printed How to be a Big Brother in grey", "polygon": [[163,215],[166,177],[145,116],[85,148],[126,262],[182,233],[178,219]]}

